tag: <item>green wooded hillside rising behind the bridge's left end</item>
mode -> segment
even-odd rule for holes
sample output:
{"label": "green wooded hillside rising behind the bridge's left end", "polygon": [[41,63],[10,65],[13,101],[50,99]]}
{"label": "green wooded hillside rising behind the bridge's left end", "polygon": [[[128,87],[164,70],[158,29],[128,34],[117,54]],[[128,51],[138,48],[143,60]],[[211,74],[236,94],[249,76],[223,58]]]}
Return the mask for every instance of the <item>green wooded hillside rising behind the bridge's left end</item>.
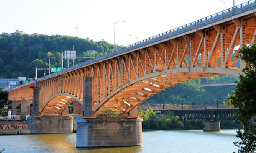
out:
{"label": "green wooded hillside rising behind the bridge's left end", "polygon": [[[94,57],[114,50],[114,45],[104,40],[94,42],[71,36],[30,36],[20,33],[14,36],[0,35],[0,78],[16,78],[22,73],[25,73],[23,76],[32,78],[33,67],[49,67],[51,57],[55,57],[50,61],[51,67],[60,68],[61,52],[73,50],[73,45],[78,43],[81,45],[75,46],[77,57]],[[89,54],[89,50],[97,50],[98,53]],[[76,59],[75,63],[83,60],[87,59]],[[72,65],[72,60],[69,63]],[[43,77],[43,72],[39,72],[38,77]]]}

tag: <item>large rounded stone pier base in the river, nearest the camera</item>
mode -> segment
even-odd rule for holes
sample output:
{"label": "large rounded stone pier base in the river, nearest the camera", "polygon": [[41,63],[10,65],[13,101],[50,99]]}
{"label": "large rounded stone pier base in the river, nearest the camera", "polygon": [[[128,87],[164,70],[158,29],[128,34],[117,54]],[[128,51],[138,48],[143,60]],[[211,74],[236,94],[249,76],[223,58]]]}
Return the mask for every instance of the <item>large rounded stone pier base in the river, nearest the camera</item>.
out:
{"label": "large rounded stone pier base in the river, nearest the camera", "polygon": [[138,118],[77,119],[76,146],[140,146],[141,122]]}

